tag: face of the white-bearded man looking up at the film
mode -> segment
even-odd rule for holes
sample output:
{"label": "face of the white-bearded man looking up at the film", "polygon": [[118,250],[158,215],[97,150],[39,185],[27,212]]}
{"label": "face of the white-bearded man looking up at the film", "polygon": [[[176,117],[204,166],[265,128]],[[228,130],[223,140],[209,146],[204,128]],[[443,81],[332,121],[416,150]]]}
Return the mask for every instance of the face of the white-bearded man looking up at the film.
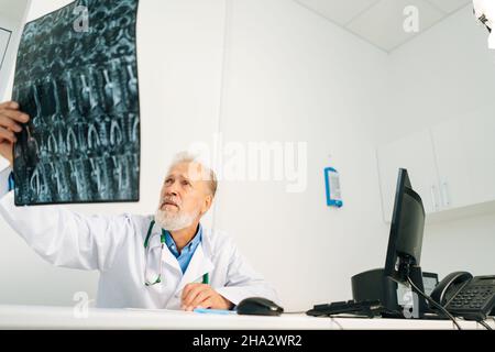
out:
{"label": "face of the white-bearded man looking up at the film", "polygon": [[166,230],[179,230],[199,221],[212,202],[207,173],[198,163],[174,165],[165,177],[158,218]]}

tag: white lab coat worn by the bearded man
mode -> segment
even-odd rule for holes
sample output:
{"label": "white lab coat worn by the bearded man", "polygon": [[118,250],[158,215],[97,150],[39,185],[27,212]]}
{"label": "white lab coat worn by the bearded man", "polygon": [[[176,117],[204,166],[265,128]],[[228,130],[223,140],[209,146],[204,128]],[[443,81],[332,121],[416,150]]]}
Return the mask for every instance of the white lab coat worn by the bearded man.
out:
{"label": "white lab coat worn by the bearded man", "polygon": [[201,282],[205,273],[213,289],[234,305],[253,296],[277,301],[275,290],[249,265],[232,239],[218,231],[202,230],[202,241],[184,275],[165,246],[162,283],[145,286],[146,255],[156,260],[161,255],[156,224],[150,252],[144,249],[152,216],[85,216],[61,206],[15,207],[12,191],[0,199],[0,213],[50,263],[98,270],[97,307],[180,309],[184,286]]}

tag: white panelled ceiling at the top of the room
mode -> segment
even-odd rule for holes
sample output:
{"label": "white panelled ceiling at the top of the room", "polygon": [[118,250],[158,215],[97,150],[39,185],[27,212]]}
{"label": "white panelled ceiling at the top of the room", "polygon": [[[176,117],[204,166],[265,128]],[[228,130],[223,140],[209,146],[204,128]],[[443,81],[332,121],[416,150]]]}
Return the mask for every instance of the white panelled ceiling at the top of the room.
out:
{"label": "white panelled ceiling at the top of the room", "polygon": [[[309,11],[354,33],[366,42],[389,53],[413,37],[464,8],[472,0],[294,0]],[[406,32],[404,23],[415,7],[418,32]]]}

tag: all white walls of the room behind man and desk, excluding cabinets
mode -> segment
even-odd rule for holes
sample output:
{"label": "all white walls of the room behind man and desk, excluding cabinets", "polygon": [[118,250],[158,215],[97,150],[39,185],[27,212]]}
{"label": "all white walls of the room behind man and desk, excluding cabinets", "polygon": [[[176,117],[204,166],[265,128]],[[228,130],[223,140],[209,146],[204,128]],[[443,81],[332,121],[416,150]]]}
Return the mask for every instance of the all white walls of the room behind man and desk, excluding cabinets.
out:
{"label": "all white walls of the room behind man and desk, excluding cabinets", "polygon": [[[32,13],[48,7],[36,1]],[[235,238],[287,310],[349,299],[350,277],[385,260],[376,145],[491,97],[485,38],[468,8],[386,55],[292,0],[231,0],[227,16],[224,0],[141,1],[141,201],[73,208],[154,211],[170,156],[195,142],[211,145],[217,132],[244,147],[307,142],[305,193],[289,194],[283,182],[222,180],[207,226]],[[326,206],[330,165],[341,173],[341,209]],[[490,216],[429,226],[425,268],[481,274],[494,228]],[[2,285],[0,302],[70,305],[77,290],[95,297],[97,273],[53,268],[2,220],[0,229],[0,282],[10,287]]]}

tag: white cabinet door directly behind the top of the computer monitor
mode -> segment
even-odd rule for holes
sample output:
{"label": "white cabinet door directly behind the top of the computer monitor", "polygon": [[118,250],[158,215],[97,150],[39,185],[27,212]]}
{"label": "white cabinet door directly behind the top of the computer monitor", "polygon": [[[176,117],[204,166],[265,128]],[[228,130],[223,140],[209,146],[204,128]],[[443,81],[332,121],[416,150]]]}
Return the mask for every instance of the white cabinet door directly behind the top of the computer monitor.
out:
{"label": "white cabinet door directly behind the top of the computer monitor", "polygon": [[384,219],[391,222],[399,168],[406,168],[413,189],[422,199],[425,211],[440,209],[438,175],[431,134],[425,130],[378,147],[378,170]]}

